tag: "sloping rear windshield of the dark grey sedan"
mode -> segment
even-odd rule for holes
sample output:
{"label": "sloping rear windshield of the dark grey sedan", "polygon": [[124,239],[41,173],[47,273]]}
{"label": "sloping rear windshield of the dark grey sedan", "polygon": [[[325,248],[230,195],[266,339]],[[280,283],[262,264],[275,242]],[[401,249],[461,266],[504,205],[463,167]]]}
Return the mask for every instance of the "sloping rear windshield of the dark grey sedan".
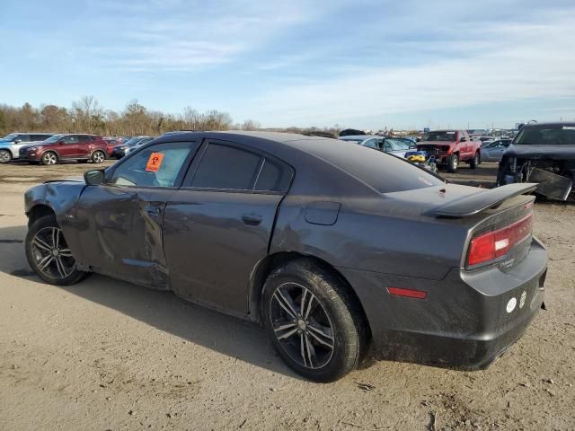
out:
{"label": "sloping rear windshield of the dark grey sedan", "polygon": [[349,172],[381,193],[423,189],[445,184],[404,159],[374,151],[363,145],[349,145],[343,141],[325,140],[313,143],[299,141],[311,154]]}

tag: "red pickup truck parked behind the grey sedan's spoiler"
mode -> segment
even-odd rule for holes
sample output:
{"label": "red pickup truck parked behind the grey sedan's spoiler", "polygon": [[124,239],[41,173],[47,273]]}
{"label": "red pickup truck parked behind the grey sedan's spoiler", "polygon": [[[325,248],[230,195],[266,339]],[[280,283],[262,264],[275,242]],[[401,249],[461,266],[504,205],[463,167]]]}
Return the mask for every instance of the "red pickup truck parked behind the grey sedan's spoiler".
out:
{"label": "red pickup truck parked behind the grey sedan's spoiler", "polygon": [[481,141],[472,141],[465,130],[432,130],[421,138],[417,149],[434,156],[439,166],[453,173],[460,162],[475,169],[481,163],[481,145]]}

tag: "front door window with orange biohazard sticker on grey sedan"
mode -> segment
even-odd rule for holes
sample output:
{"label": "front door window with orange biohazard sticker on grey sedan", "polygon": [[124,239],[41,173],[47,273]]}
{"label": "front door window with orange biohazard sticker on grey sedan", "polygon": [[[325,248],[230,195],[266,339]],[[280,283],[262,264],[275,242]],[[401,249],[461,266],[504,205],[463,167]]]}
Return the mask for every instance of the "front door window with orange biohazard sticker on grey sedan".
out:
{"label": "front door window with orange biohazard sticker on grey sedan", "polygon": [[109,183],[128,187],[174,187],[183,163],[190,152],[197,149],[195,142],[152,145],[121,163]]}

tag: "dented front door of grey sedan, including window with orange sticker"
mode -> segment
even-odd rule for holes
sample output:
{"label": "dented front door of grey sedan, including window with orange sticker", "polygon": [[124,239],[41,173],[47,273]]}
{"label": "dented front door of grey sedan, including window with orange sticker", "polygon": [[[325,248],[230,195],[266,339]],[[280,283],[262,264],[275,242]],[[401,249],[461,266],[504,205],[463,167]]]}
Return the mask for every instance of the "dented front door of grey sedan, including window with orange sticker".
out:
{"label": "dented front door of grey sedan, including window with orange sticker", "polygon": [[[197,149],[194,142],[151,145],[87,186],[77,206],[84,260],[94,270],[139,285],[168,287],[162,229],[166,202]],[[95,235],[95,238],[94,238]]]}

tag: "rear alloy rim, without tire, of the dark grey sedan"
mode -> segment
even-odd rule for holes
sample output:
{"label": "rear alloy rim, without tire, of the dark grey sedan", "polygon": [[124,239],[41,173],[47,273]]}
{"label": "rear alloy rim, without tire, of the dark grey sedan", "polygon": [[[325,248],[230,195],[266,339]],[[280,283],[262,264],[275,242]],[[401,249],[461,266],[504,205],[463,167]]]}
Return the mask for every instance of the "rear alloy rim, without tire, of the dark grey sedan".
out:
{"label": "rear alloy rim, without tire, of the dark grey sedan", "polygon": [[278,286],[270,298],[270,320],[279,344],[299,365],[318,369],[332,359],[332,322],[322,303],[304,286]]}

